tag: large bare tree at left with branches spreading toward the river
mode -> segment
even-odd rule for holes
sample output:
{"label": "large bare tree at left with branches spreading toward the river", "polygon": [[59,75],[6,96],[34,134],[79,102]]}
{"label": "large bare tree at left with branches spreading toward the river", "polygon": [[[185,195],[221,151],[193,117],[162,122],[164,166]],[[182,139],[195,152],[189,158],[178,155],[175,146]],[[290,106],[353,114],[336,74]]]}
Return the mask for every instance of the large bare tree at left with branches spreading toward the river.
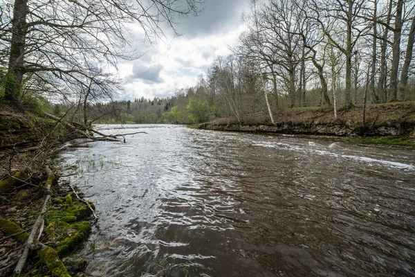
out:
{"label": "large bare tree at left with branches spreading toward the river", "polygon": [[203,2],[6,0],[0,9],[0,46],[10,49],[2,78],[4,98],[19,105],[28,74],[45,82],[54,76],[73,85],[82,78],[93,79],[94,62],[114,71],[118,60],[138,57],[127,42],[130,24],[138,24],[147,42],[153,43],[164,35],[161,24],[176,32],[176,18],[197,15]]}

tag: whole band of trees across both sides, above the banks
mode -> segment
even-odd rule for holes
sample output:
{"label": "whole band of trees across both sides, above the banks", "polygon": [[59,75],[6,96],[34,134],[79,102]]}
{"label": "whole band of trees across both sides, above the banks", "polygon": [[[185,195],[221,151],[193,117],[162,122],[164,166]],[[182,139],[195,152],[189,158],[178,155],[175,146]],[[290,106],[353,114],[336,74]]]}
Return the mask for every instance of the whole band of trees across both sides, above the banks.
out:
{"label": "whole band of trees across both sides, above the banks", "polygon": [[232,55],[216,57],[196,86],[157,105],[114,101],[122,88],[111,72],[119,60],[138,58],[126,50],[129,23],[155,42],[160,21],[174,29],[176,17],[197,14],[203,3],[181,2],[5,1],[1,99],[18,106],[55,97],[57,109],[75,107],[86,122],[95,113],[92,120],[124,115],[137,123],[241,122],[256,114],[273,121],[282,109],[324,105],[336,117],[339,106],[415,100],[414,0],[251,0]]}

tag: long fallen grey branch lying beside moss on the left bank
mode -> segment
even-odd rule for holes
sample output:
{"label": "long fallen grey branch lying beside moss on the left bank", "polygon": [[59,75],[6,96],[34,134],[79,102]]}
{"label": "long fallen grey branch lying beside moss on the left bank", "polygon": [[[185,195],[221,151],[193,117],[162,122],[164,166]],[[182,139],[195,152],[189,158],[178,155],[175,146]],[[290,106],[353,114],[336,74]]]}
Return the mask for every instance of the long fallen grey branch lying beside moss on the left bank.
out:
{"label": "long fallen grey branch lying beside moss on the left bank", "polygon": [[[24,247],[24,251],[21,254],[21,257],[19,259],[19,262],[17,262],[17,265],[15,267],[15,274],[19,275],[21,274],[22,269],[24,268],[24,265],[26,265],[26,260],[28,258],[29,250],[40,250],[45,249],[46,245],[40,243],[35,238],[39,231],[39,229],[43,232],[43,226],[44,226],[44,217],[45,213],[48,210],[49,202],[50,202],[50,185],[52,184],[53,180],[55,179],[55,175],[53,175],[52,170],[50,168],[46,167],[46,173],[48,175],[48,180],[46,181],[46,190],[47,195],[44,202],[44,205],[42,207],[42,211],[40,212],[40,215],[37,217],[37,220],[35,221],[35,224],[32,226],[32,231],[30,232],[28,240],[26,240],[26,247]],[[42,233],[41,233],[42,234]]]}

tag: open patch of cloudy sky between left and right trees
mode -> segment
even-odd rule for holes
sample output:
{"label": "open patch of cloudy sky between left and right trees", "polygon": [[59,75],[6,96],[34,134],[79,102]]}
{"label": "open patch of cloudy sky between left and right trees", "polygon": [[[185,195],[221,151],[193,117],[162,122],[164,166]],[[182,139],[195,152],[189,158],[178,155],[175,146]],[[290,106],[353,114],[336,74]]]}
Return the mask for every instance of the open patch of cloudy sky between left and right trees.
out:
{"label": "open patch of cloudy sky between left and right trees", "polygon": [[122,62],[120,77],[124,78],[122,97],[166,97],[177,89],[192,87],[201,73],[218,55],[228,55],[229,46],[243,30],[241,15],[250,0],[206,0],[199,17],[181,19],[181,37],[169,36],[169,41],[143,46],[140,39],[140,59]]}

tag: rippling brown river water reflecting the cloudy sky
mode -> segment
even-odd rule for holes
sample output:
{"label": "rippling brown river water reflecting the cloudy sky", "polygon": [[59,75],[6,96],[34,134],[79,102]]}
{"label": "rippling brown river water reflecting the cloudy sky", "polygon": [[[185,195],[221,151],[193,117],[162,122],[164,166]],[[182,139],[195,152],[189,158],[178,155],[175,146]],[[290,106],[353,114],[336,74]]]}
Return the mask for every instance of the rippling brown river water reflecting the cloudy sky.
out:
{"label": "rippling brown river water reflecting the cloudy sky", "polygon": [[86,276],[415,276],[415,148],[99,128],[147,134],[62,155],[100,217]]}

